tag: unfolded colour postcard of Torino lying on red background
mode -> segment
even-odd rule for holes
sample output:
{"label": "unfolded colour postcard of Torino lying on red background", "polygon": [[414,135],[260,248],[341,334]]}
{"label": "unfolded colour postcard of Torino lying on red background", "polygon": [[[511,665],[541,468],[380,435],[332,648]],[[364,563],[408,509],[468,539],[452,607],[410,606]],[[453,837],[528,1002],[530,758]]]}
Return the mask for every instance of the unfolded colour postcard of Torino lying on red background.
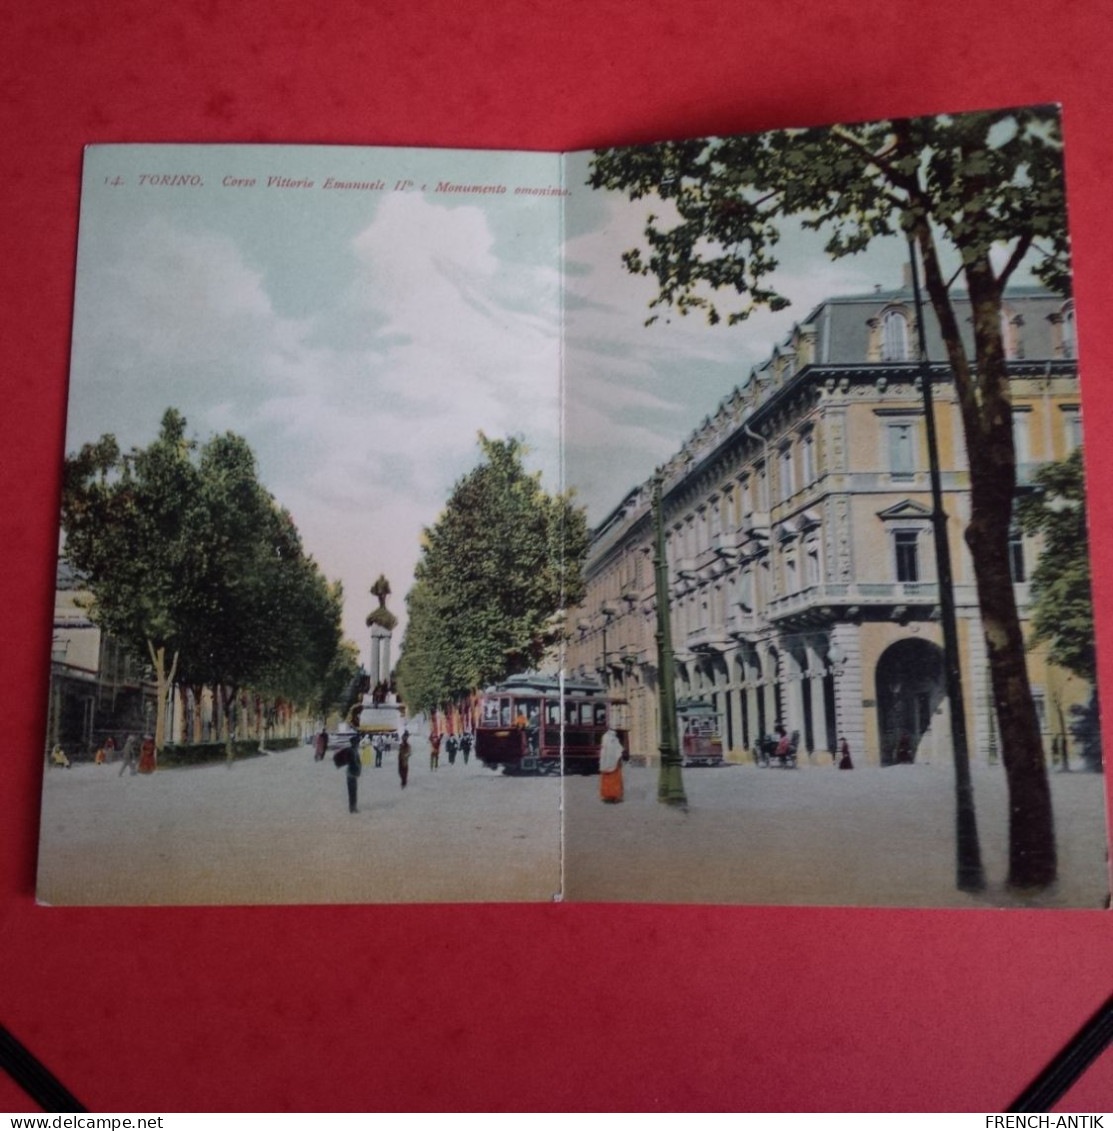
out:
{"label": "unfolded colour postcard of Torino lying on red background", "polygon": [[1058,109],[84,165],[51,905],[1107,905]]}

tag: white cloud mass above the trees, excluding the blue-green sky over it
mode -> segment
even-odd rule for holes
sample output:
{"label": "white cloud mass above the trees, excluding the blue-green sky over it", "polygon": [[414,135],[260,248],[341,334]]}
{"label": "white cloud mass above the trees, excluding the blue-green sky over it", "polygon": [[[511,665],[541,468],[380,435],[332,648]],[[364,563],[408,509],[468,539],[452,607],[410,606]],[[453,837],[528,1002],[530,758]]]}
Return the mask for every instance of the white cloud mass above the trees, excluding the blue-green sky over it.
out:
{"label": "white cloud mass above the trees, excluding the blue-green sky over it", "polygon": [[[103,431],[146,443],[167,405],[202,439],[243,434],[307,550],[343,580],[345,631],[362,646],[371,581],[387,573],[402,614],[421,528],[474,466],[480,430],[526,435],[555,485],[551,250],[547,266],[508,264],[483,208],[392,196],[350,245],[347,292],[314,309],[233,236],[137,224],[80,280],[69,447]],[[299,301],[284,303],[291,287]],[[371,329],[330,335],[337,318]]]}

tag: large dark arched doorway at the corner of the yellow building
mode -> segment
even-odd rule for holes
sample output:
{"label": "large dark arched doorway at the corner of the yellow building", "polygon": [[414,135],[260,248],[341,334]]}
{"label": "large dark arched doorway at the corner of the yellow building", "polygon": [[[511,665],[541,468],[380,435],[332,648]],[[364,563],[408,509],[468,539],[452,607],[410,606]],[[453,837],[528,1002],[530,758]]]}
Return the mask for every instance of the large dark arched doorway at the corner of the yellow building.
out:
{"label": "large dark arched doorway at the corner of the yellow building", "polygon": [[877,689],[881,765],[915,761],[946,694],[942,649],[920,639],[890,645],[878,659]]}

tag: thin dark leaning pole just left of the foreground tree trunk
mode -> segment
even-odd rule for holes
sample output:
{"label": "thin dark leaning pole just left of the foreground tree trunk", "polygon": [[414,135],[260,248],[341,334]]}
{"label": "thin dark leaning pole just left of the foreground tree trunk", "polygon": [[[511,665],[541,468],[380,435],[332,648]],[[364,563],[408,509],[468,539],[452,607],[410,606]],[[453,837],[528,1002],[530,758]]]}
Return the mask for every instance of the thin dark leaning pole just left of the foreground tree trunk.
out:
{"label": "thin dark leaning pole just left of the foreground tree trunk", "polygon": [[951,744],[955,753],[955,834],[956,883],[960,891],[981,891],[985,887],[982,849],[977,837],[974,811],[974,786],[970,782],[969,749],[966,741],[966,711],[963,706],[963,676],[958,657],[958,627],[955,620],[955,581],[951,576],[950,546],[947,537],[947,513],[939,473],[939,444],[935,437],[935,414],[932,406],[931,365],[928,362],[928,338],[924,333],[924,308],[916,271],[916,248],[908,235],[908,261],[912,267],[912,293],[916,307],[917,345],[920,347],[920,390],[924,403],[928,429],[928,461],[931,469],[931,524],[935,543],[935,575],[939,578],[939,612],[943,629],[943,668],[947,699],[950,702]]}

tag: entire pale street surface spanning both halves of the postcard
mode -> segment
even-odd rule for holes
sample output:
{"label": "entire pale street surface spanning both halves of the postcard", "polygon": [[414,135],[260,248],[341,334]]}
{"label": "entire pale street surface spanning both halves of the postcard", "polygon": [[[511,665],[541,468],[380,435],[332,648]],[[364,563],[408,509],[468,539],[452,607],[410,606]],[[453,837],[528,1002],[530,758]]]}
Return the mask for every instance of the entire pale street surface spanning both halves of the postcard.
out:
{"label": "entire pale street surface spanning both halves of the postcard", "polygon": [[[954,884],[949,765],[688,769],[687,812],[656,801],[656,771],[625,768],[627,800],[598,778],[508,777],[473,758],[409,785],[396,756],[345,775],[308,746],[149,777],[117,766],[48,770],[40,896],[57,904],[550,900],[921,907],[1101,907],[1108,890],[1104,778],[1052,772],[1061,880],[1004,888],[1000,767],[975,770],[987,890]],[[563,786],[563,792],[562,792]],[[563,805],[562,805],[563,801]]]}

